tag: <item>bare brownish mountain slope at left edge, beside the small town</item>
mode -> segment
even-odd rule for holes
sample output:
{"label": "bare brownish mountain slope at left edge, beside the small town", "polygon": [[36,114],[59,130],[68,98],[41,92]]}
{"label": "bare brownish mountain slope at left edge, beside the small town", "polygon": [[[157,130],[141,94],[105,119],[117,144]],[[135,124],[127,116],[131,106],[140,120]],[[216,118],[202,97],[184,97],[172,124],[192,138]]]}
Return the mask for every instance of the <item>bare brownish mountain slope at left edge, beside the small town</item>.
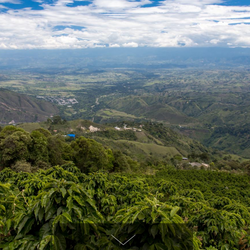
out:
{"label": "bare brownish mountain slope at left edge, beside the small town", "polygon": [[58,113],[57,107],[49,102],[0,89],[0,123],[44,121]]}

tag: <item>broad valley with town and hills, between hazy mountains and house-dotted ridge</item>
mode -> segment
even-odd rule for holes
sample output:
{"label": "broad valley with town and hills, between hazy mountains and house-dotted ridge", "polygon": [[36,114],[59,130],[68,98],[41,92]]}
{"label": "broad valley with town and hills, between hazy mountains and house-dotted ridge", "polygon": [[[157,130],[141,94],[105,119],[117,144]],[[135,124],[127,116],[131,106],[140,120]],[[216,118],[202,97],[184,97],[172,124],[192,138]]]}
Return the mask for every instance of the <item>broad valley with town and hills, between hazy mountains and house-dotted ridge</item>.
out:
{"label": "broad valley with town and hills, between hazy mountains and house-dotted ridge", "polygon": [[249,156],[247,70],[30,71],[2,74],[1,86],[56,104],[54,113],[66,120],[161,122],[206,146]]}

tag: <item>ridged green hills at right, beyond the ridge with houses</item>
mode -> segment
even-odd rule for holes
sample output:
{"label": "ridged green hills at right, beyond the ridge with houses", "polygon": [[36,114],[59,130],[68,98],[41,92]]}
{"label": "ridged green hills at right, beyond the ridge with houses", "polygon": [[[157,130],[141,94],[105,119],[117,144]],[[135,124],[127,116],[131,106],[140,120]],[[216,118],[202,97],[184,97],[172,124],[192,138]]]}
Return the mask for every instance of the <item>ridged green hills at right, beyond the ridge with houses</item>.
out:
{"label": "ridged green hills at right, beyond the ridge with houses", "polygon": [[163,122],[207,147],[249,158],[249,94],[171,92],[130,95],[104,101],[96,122],[140,120]]}

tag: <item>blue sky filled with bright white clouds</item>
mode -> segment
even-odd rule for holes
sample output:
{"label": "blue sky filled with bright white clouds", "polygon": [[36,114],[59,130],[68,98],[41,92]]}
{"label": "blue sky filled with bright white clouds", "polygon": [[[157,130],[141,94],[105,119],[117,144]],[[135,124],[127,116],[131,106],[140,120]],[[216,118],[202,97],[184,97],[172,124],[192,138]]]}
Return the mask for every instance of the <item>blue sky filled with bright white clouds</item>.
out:
{"label": "blue sky filled with bright white clouds", "polygon": [[250,48],[250,0],[0,0],[0,49]]}

